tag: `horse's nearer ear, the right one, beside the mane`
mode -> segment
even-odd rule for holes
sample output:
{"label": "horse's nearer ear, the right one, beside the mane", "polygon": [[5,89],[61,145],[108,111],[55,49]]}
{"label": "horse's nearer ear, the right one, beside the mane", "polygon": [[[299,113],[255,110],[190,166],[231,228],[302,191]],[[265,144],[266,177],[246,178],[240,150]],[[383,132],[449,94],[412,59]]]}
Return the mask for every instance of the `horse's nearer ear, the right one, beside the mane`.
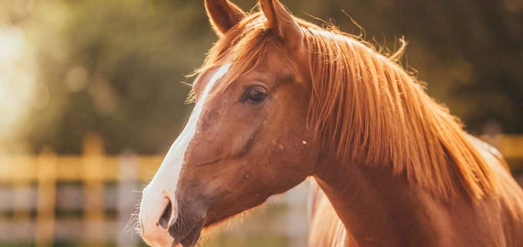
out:
{"label": "horse's nearer ear, the right one, beside the mane", "polygon": [[294,18],[278,0],[260,0],[261,11],[270,29],[285,40],[301,40],[303,33]]}

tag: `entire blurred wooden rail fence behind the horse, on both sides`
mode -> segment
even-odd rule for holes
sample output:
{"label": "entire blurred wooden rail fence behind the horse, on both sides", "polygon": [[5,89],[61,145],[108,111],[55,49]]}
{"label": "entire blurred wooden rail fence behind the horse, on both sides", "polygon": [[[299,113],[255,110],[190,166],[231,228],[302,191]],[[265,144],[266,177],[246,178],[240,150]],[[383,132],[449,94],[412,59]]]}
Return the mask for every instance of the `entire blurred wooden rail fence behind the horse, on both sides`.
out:
{"label": "entire blurred wooden rail fence behind the horse, on both sides", "polygon": [[[482,138],[501,150],[515,170],[523,171],[523,136]],[[112,234],[121,246],[135,245],[136,240],[131,240],[122,230],[130,214],[134,213],[139,191],[152,179],[162,159],[163,155],[135,156],[124,153],[106,156],[100,137],[94,134],[85,139],[81,156],[58,156],[51,149],[44,149],[38,156],[0,156],[0,185],[7,188],[4,192],[10,192],[9,195],[0,193],[0,213],[4,212],[0,216],[0,243],[16,240],[17,233],[13,229],[17,227],[25,232],[18,240],[34,242],[37,246],[51,245],[61,233],[71,234],[69,231],[74,224],[63,227],[55,215],[59,211],[57,202],[64,201],[60,199],[63,195],[57,195],[57,184],[78,183],[82,187],[82,195],[73,196],[67,203],[81,207],[81,219],[76,225],[81,225],[82,239],[99,243],[107,241],[104,236]],[[107,198],[107,189],[104,189],[107,183],[116,185],[116,192],[111,197],[117,198]],[[28,193],[32,187],[36,187],[34,196]],[[294,190],[283,200],[288,208],[283,221],[291,221],[288,224],[292,226],[278,222],[271,227],[294,238],[291,241],[293,246],[304,246],[306,243],[305,194],[305,190]],[[36,199],[31,201],[31,198]],[[116,202],[110,208],[116,211],[117,219],[113,226],[108,227],[107,201],[111,200]]]}

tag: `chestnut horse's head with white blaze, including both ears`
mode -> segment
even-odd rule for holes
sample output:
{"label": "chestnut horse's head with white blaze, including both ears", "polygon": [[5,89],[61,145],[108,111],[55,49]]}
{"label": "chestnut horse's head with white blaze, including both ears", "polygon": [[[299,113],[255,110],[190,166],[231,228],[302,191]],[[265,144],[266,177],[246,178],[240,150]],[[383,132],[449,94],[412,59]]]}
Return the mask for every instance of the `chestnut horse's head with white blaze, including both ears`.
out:
{"label": "chestnut horse's head with white blaze, including both ears", "polygon": [[312,174],[312,88],[301,27],[277,0],[247,15],[207,0],[220,40],[192,86],[183,132],[143,190],[140,222],[155,246],[194,246],[203,228],[263,204]]}

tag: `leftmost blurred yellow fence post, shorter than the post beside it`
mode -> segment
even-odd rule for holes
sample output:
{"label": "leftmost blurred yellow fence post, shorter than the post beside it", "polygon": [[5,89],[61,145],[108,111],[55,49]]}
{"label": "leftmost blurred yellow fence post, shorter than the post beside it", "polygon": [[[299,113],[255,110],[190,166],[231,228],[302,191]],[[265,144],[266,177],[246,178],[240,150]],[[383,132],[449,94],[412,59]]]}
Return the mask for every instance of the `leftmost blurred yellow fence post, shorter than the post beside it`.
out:
{"label": "leftmost blurred yellow fence post, shorter than the post beside it", "polygon": [[56,166],[58,159],[50,148],[44,148],[37,161],[36,245],[51,246],[54,240],[56,200]]}

